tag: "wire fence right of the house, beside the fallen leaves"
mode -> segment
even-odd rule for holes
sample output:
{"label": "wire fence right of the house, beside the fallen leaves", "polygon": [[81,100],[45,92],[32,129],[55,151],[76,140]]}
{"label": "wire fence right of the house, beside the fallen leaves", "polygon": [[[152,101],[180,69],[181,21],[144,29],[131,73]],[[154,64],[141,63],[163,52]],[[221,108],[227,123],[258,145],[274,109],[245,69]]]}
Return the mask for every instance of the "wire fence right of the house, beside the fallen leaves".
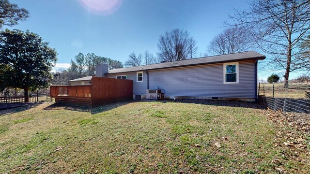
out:
{"label": "wire fence right of the house, beside the fallen leaves", "polygon": [[310,114],[310,80],[259,83],[258,95],[270,109]]}

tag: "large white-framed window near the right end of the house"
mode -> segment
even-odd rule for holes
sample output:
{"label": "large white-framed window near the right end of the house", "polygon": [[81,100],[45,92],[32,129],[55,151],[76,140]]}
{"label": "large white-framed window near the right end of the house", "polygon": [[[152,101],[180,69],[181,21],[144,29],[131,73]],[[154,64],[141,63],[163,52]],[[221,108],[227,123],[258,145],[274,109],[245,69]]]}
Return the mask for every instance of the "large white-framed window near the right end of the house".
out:
{"label": "large white-framed window near the right end of the house", "polygon": [[239,83],[239,63],[224,63],[224,84]]}

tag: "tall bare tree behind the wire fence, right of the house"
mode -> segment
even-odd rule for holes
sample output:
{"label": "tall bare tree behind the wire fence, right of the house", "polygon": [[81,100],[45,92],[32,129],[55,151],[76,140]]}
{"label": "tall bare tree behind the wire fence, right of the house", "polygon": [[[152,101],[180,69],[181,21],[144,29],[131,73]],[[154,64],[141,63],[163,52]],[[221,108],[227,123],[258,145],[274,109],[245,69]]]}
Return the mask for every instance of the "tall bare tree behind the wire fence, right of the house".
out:
{"label": "tall bare tree behind the wire fence, right of the house", "polygon": [[309,0],[252,0],[250,9],[235,10],[230,17],[254,38],[257,46],[272,57],[274,69],[285,70],[285,86],[290,72],[308,64],[298,55],[298,43],[310,29]]}

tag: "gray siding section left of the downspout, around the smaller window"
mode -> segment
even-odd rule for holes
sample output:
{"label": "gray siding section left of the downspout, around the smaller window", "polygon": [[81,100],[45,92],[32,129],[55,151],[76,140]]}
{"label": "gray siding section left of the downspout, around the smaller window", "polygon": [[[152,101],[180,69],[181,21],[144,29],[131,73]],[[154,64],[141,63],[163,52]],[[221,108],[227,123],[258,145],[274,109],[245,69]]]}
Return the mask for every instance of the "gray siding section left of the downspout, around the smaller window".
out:
{"label": "gray siding section left of the downspout, around the smaller window", "polygon": [[133,94],[134,95],[146,95],[147,74],[145,72],[143,72],[143,82],[137,82],[137,72],[107,74],[106,76],[109,78],[116,78],[117,75],[127,75],[127,79],[133,80]]}

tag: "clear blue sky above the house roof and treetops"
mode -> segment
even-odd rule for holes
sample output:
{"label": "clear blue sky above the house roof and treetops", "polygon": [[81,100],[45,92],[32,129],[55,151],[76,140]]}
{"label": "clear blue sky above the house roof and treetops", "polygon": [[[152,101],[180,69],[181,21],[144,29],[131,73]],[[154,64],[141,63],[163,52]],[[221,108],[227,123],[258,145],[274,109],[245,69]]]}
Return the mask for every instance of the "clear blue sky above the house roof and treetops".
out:
{"label": "clear blue sky above the house roof and treetops", "polygon": [[[100,0],[10,0],[30,17],[9,29],[39,34],[57,50],[57,67],[63,68],[79,52],[123,63],[133,51],[156,55],[159,35],[176,28],[196,40],[200,57],[233,8],[248,8],[247,0],[102,0],[105,6],[92,1]],[[117,1],[111,11],[95,10],[111,1]],[[269,74],[259,71],[260,78]]]}

